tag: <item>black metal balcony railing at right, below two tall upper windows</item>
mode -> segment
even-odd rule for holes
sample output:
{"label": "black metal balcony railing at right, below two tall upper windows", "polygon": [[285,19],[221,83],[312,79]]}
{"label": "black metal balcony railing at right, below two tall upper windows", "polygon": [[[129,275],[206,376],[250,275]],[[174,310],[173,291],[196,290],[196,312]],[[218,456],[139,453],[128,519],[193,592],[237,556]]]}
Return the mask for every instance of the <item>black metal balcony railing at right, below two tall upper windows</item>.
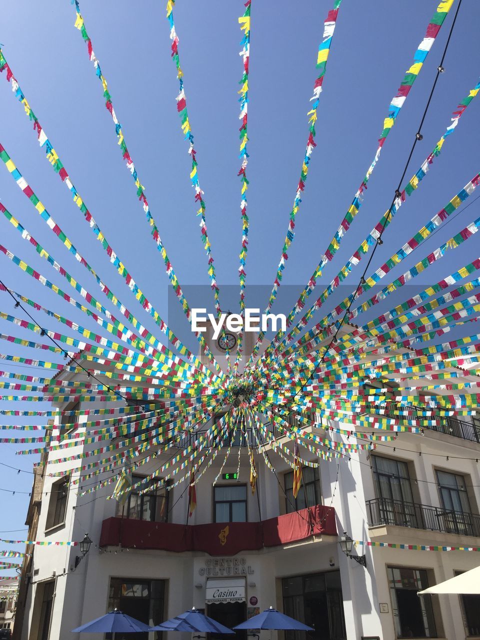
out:
{"label": "black metal balcony railing at right, below two tall upper windows", "polygon": [[473,513],[447,511],[425,504],[387,498],[367,500],[366,504],[372,527],[381,524],[396,525],[480,538],[480,516]]}

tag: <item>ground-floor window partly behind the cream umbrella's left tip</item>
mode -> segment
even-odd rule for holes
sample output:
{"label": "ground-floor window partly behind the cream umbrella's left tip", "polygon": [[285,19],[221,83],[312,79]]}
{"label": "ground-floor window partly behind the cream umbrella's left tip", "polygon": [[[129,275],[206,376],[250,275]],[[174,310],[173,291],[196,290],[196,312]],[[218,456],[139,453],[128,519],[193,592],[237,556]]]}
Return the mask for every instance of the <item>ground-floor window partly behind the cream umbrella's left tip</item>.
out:
{"label": "ground-floor window partly behind the cream umbrella's left tip", "polygon": [[387,572],[397,638],[437,637],[431,596],[417,595],[428,587],[426,570],[388,566]]}

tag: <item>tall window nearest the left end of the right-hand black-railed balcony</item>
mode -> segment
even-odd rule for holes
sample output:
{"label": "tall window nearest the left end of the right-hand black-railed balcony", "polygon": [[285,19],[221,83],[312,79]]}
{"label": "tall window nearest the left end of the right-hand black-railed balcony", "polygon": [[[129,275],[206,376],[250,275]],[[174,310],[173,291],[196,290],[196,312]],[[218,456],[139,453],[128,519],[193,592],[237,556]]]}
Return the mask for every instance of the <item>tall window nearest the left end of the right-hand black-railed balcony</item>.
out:
{"label": "tall window nearest the left end of the right-hand black-railed balcony", "polygon": [[407,463],[381,456],[372,456],[371,460],[380,522],[417,527]]}

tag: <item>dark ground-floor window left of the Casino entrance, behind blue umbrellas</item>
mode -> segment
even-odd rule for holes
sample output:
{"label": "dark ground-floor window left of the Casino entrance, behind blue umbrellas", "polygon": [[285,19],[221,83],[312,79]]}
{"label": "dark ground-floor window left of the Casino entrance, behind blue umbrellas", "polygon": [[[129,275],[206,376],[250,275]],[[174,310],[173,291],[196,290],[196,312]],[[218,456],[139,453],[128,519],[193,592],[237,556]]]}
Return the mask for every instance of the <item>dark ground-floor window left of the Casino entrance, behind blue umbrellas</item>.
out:
{"label": "dark ground-floor window left of the Casino entrance, behind blue umbrellas", "polygon": [[[159,625],[165,619],[165,586],[166,580],[111,578],[108,611],[116,607],[150,627]],[[111,635],[107,634],[106,637]],[[127,637],[129,640],[147,640],[149,637],[157,640],[161,632],[128,634]]]}

